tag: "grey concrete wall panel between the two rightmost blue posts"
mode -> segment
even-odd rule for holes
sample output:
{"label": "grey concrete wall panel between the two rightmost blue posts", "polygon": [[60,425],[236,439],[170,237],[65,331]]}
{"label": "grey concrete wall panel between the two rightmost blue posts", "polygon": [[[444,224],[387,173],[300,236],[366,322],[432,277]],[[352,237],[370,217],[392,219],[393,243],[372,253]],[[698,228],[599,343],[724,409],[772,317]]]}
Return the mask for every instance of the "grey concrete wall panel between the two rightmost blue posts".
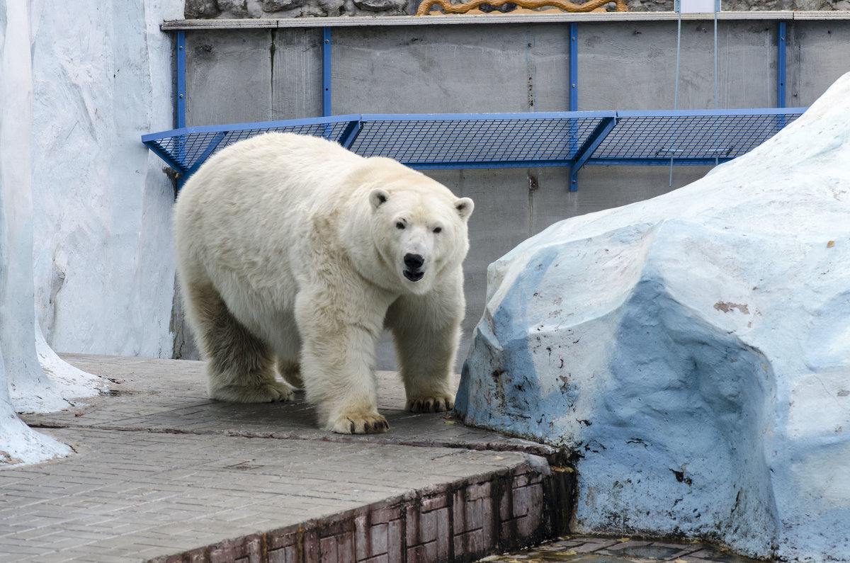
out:
{"label": "grey concrete wall panel between the two rightmost blue posts", "polygon": [[[717,106],[776,107],[776,22],[717,26]],[[677,22],[579,27],[581,110],[672,109]],[[713,109],[714,23],[682,23],[678,109]]]}

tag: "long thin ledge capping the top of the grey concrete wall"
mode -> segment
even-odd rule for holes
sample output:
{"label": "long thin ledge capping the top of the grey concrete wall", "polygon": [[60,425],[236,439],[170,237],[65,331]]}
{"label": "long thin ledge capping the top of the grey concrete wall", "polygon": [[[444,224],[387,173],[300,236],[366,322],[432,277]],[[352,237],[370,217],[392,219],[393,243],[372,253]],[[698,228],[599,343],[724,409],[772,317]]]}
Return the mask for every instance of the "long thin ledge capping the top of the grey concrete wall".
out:
{"label": "long thin ledge capping the top of the grey concrete wall", "polygon": [[[682,20],[712,20],[711,14],[683,14]],[[360,27],[360,26],[476,26],[513,24],[567,24],[590,22],[676,21],[676,12],[600,12],[587,14],[487,14],[487,15],[383,15],[333,18],[251,18],[246,20],[174,20],[166,21],[162,31],[279,29],[286,27]],[[850,11],[751,11],[720,12],[717,20],[850,20]]]}

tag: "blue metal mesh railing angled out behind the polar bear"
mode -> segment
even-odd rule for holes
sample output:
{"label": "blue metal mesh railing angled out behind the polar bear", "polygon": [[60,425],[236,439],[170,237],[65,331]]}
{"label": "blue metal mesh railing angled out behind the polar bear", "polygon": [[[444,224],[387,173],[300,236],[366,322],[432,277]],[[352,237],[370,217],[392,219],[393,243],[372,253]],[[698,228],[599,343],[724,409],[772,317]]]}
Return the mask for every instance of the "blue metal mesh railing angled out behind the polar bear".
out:
{"label": "blue metal mesh railing angled out behind the polar bear", "polygon": [[805,108],[714,111],[559,111],[348,115],[178,128],[142,141],[188,178],[213,153],[273,131],[336,141],[361,156],[411,168],[711,165],[751,151]]}

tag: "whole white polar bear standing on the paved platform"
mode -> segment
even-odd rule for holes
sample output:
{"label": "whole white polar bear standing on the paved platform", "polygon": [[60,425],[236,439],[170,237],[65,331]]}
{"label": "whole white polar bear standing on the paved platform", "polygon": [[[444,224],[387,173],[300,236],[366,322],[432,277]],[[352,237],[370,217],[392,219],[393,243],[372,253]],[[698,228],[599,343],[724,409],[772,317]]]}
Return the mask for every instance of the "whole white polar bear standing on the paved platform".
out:
{"label": "whole white polar bear standing on the paved platform", "polygon": [[261,134],[219,151],[174,213],[209,395],[292,399],[276,360],[323,429],[384,432],[375,369],[386,327],[406,408],[450,410],[472,212],[422,173],[325,139]]}

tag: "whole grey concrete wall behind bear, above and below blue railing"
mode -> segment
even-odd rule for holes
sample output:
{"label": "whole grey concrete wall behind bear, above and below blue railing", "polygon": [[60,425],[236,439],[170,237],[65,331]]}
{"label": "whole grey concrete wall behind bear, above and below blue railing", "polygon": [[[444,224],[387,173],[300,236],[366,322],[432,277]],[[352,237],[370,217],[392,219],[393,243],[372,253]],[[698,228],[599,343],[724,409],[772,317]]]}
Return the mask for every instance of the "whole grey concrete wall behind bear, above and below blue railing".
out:
{"label": "whole grey concrete wall behind bear, above and below blue railing", "polygon": [[[787,24],[786,105],[808,105],[850,71],[850,20]],[[775,107],[776,20],[718,26],[720,108]],[[187,125],[321,115],[319,28],[187,31]],[[677,24],[578,26],[579,110],[672,109]],[[683,23],[679,109],[714,107],[713,22]],[[561,24],[332,28],[332,113],[566,111],[569,37]],[[679,166],[672,188],[709,168]],[[475,200],[466,263],[468,336],[484,307],[486,268],[561,219],[672,189],[666,167],[430,171]],[[462,356],[466,350],[462,350]],[[391,351],[382,367],[391,368]]]}

